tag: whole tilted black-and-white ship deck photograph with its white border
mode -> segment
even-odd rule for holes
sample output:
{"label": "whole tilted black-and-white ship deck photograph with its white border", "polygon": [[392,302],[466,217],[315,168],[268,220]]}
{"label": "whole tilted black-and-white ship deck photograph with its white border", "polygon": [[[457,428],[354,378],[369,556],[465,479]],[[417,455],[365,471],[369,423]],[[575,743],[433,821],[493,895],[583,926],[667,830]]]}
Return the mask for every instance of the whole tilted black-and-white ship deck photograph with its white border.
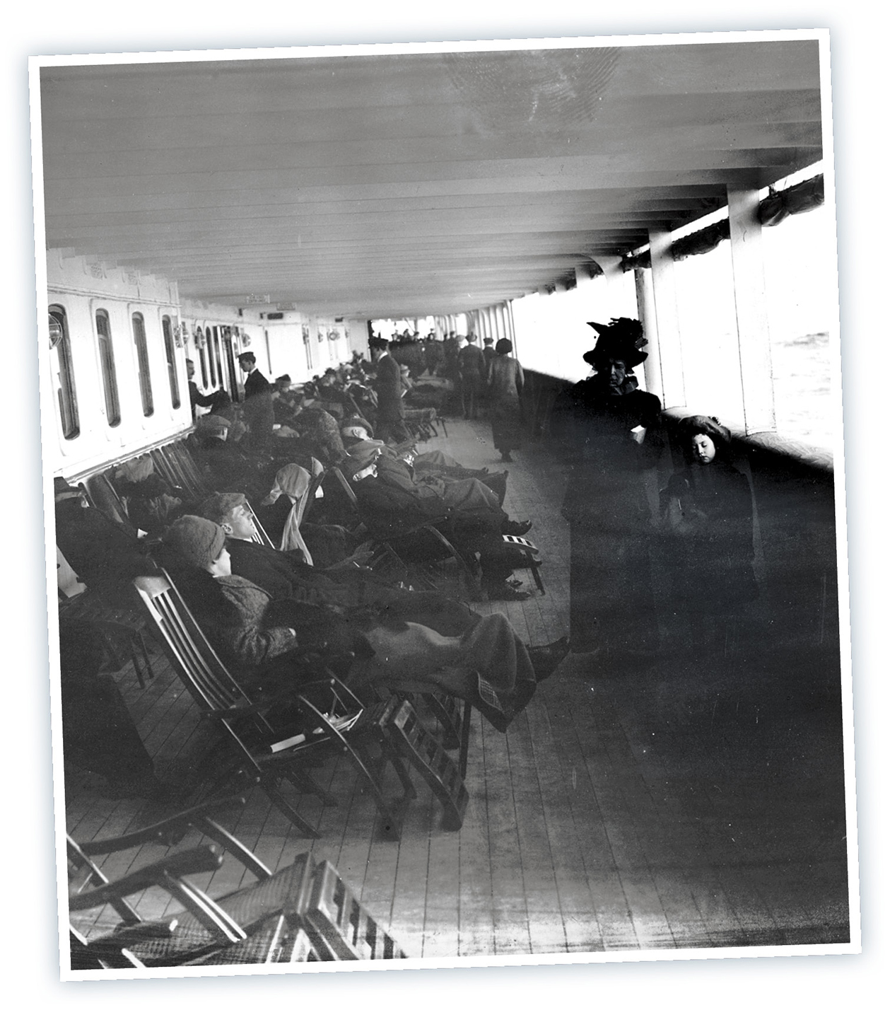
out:
{"label": "whole tilted black-and-white ship deck photograph with its white border", "polygon": [[29,55],[63,984],[860,953],[830,43]]}

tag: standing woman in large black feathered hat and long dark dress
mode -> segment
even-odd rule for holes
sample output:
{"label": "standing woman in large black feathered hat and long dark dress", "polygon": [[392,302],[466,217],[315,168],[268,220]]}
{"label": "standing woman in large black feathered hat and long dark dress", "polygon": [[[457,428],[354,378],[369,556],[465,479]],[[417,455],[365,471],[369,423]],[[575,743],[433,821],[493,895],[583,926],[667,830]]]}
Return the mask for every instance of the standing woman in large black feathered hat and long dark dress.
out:
{"label": "standing woman in large black feathered hat and long dark dress", "polygon": [[658,641],[649,540],[658,522],[661,401],[633,374],[648,357],[640,322],[588,325],[599,334],[584,355],[593,374],[558,399],[551,420],[571,467],[563,503],[571,525],[569,637],[572,651],[621,665],[651,656]]}

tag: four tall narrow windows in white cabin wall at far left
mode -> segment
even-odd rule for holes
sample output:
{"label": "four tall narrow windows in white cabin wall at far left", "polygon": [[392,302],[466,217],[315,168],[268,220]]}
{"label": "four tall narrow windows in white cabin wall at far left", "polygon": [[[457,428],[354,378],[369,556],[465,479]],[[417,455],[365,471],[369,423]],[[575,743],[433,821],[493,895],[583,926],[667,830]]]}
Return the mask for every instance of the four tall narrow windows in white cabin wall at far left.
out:
{"label": "four tall narrow windows in white cabin wall at far left", "polygon": [[[148,368],[148,343],[145,338],[145,320],[141,312],[134,312],[131,321],[133,343],[136,348],[142,414],[145,417],[150,417],[154,413],[154,396],[151,391],[151,373]],[[174,409],[177,409],[182,403],[182,398],[180,396],[180,382],[177,376],[173,326],[170,316],[163,316],[161,319],[161,329],[166,356],[171,403]],[[75,387],[68,316],[61,305],[49,306],[49,333],[52,346],[55,348],[58,367],[55,387],[59,400],[59,416],[62,419],[62,432],[66,438],[76,438],[81,431],[78,397]],[[105,309],[96,310],[96,336],[99,345],[102,389],[105,395],[105,416],[109,427],[113,428],[120,424],[120,397],[117,389],[117,372],[114,367],[111,321]]]}

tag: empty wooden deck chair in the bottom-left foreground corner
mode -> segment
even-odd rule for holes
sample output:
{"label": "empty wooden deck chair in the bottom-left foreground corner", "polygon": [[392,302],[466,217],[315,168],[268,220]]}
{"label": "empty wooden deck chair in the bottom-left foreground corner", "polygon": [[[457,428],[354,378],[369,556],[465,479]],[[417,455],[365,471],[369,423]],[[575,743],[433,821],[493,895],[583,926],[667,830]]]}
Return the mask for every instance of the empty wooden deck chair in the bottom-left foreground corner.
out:
{"label": "empty wooden deck chair in the bottom-left foreground corner", "polygon": [[[173,965],[249,965],[308,961],[404,957],[399,944],[355,900],[331,864],[309,853],[272,873],[234,835],[210,817],[240,798],[205,803],[127,835],[81,842],[68,839],[72,968],[159,968]],[[109,882],[96,856],[146,843],[177,843],[190,828],[210,838]],[[211,899],[186,878],[217,869],[223,852],[255,880]],[[182,910],[145,921],[126,901],[161,888]],[[139,902],[144,907],[144,902]],[[110,906],[99,927],[88,910]],[[95,916],[95,911],[93,913]]]}

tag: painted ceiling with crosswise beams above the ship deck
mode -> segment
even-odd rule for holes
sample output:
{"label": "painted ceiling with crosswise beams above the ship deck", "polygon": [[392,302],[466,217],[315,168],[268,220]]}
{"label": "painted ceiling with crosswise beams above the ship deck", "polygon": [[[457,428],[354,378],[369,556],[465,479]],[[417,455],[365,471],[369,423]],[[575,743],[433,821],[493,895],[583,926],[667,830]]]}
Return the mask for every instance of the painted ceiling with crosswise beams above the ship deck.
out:
{"label": "painted ceiling with crosswise beams above the ship deck", "polygon": [[460,312],[821,158],[815,41],[44,67],[50,247],[323,315]]}

